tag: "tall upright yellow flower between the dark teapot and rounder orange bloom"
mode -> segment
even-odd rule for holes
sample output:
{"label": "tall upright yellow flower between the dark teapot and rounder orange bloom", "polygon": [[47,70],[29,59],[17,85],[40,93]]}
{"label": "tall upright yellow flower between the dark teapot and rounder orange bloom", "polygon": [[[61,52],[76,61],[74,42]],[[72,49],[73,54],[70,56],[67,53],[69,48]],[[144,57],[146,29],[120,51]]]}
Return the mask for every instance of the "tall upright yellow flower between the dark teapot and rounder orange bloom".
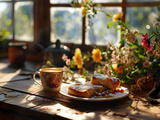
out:
{"label": "tall upright yellow flower between the dark teapot and rounder orange bloom", "polygon": [[76,48],[74,56],[73,56],[73,60],[79,69],[82,68],[83,66],[82,54],[79,48]]}

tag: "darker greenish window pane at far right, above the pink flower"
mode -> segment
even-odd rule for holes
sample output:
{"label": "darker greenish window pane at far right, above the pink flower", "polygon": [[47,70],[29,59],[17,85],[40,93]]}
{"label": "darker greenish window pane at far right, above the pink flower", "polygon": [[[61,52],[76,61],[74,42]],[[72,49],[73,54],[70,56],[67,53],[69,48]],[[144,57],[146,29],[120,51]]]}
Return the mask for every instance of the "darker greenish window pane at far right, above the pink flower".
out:
{"label": "darker greenish window pane at far right, above the pink flower", "polygon": [[137,29],[145,34],[149,32],[146,26],[153,27],[153,23],[159,17],[159,12],[156,7],[131,7],[126,11],[126,22],[132,29]]}

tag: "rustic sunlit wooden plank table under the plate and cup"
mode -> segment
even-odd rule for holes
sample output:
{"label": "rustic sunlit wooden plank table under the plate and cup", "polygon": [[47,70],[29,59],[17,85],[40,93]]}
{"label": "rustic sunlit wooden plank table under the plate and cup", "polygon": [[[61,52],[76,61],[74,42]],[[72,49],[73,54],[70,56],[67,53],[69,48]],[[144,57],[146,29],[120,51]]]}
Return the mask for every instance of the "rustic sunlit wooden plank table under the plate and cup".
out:
{"label": "rustic sunlit wooden plank table under the plate and cup", "polygon": [[0,118],[5,120],[159,120],[160,105],[146,100],[148,91],[129,94],[120,100],[85,102],[61,94],[46,93],[34,84],[36,64],[12,68],[0,59]]}

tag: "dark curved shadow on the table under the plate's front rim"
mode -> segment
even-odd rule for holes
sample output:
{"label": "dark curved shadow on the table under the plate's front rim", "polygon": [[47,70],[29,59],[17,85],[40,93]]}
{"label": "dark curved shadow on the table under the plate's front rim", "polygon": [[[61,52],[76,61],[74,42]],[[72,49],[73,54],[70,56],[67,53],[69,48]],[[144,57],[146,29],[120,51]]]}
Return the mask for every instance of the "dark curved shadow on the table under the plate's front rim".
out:
{"label": "dark curved shadow on the table under the plate's front rim", "polygon": [[[127,103],[127,104],[126,104]],[[129,97],[113,100],[113,101],[79,101],[71,100],[71,104],[64,104],[67,107],[82,111],[82,112],[92,112],[92,111],[104,111],[109,109],[119,109],[127,108],[132,104]]]}

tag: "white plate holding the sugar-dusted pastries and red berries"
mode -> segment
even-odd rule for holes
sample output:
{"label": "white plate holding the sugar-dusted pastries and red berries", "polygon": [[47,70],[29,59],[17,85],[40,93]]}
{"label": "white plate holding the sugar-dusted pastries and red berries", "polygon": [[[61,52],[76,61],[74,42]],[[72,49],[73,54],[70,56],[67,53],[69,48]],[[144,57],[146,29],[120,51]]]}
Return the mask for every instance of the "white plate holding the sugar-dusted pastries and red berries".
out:
{"label": "white plate holding the sugar-dusted pastries and red berries", "polygon": [[77,97],[77,96],[73,96],[73,95],[69,95],[68,94],[68,87],[71,84],[62,84],[61,89],[60,89],[60,93],[62,95],[65,95],[71,99],[75,99],[75,100],[81,100],[81,101],[112,101],[112,100],[117,100],[117,99],[121,99],[124,98],[126,96],[128,96],[129,91],[127,88],[122,87],[120,89],[123,89],[124,92],[123,93],[115,93],[115,94],[109,94],[111,96],[113,96],[113,98],[83,98],[83,97]]}

